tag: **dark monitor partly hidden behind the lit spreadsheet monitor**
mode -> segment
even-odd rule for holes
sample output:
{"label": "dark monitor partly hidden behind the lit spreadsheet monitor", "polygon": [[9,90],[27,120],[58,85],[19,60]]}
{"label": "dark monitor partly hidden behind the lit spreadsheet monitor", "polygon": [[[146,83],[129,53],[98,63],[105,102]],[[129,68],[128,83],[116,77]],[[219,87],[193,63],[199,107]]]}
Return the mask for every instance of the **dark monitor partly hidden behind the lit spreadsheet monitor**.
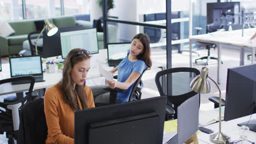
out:
{"label": "dark monitor partly hidden behind the lit spreadsheet monitor", "polygon": [[61,40],[60,33],[69,31],[78,31],[84,29],[83,26],[61,27],[58,32],[48,37],[46,31],[43,34],[43,58],[61,56]]}

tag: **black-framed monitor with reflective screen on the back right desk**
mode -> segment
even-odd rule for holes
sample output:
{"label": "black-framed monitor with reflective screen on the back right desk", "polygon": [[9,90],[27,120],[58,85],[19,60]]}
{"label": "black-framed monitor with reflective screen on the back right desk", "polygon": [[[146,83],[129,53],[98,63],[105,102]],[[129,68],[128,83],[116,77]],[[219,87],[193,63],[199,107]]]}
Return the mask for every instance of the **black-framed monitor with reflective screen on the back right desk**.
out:
{"label": "black-framed monitor with reflective screen on the back right desk", "polygon": [[239,23],[240,2],[207,3],[207,25]]}

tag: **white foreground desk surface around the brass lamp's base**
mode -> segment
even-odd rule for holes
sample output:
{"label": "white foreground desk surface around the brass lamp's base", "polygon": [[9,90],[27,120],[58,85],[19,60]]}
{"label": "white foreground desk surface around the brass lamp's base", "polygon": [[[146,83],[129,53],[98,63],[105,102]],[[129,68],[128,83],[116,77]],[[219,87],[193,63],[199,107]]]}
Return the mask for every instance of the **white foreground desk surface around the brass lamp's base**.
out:
{"label": "white foreground desk surface around the brass lamp's base", "polygon": [[[239,140],[240,139],[240,128],[237,123],[241,123],[241,122],[246,122],[249,120],[250,116],[246,116],[246,117],[242,117],[242,118],[237,118],[237,119],[233,119],[231,121],[225,122],[222,121],[222,132],[228,136],[230,136],[230,140],[234,141],[234,140]],[[252,116],[252,119],[256,119],[256,114],[254,114]],[[207,125],[206,128],[210,128],[212,130],[214,130],[214,133],[218,132],[219,130],[219,123],[214,123],[211,125]],[[212,134],[214,134],[212,133]],[[206,133],[199,133],[197,134],[197,138],[199,140],[199,143],[212,143],[210,142],[210,135],[211,134],[206,134]],[[248,131],[248,140],[249,141],[253,141],[256,142],[256,133],[249,130]]]}

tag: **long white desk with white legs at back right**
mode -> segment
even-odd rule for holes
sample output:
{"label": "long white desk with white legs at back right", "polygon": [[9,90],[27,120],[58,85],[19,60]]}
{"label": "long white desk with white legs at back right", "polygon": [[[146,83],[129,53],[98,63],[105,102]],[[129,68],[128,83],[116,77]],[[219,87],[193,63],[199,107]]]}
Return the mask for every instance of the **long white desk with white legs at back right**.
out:
{"label": "long white desk with white legs at back right", "polygon": [[[232,45],[240,47],[240,65],[244,64],[245,49],[250,49],[252,55],[255,53],[256,43],[250,41],[249,38],[256,32],[256,28],[244,29],[244,37],[242,37],[242,30],[236,31],[218,31],[208,34],[193,35],[189,37],[189,61],[190,67],[192,64],[192,41],[199,41],[202,43],[217,44],[218,47],[218,68],[217,68],[217,82],[220,83],[220,63],[222,61],[221,50],[223,45]],[[254,63],[254,56],[252,56],[252,63]]]}

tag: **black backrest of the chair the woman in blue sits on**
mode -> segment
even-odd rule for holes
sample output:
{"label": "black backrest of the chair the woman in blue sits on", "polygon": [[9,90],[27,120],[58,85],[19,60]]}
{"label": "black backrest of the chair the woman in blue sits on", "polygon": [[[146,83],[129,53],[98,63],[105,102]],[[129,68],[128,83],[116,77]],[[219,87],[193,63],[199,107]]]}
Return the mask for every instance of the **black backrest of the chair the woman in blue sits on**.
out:
{"label": "black backrest of the chair the woman in blue sits on", "polygon": [[132,87],[132,91],[129,97],[129,101],[133,101],[133,100],[140,100],[141,99],[141,89],[143,88],[143,82],[141,81],[142,75],[144,74],[144,72],[147,69],[144,69],[142,71],[141,76],[138,77],[138,79],[136,80],[135,84]]}

